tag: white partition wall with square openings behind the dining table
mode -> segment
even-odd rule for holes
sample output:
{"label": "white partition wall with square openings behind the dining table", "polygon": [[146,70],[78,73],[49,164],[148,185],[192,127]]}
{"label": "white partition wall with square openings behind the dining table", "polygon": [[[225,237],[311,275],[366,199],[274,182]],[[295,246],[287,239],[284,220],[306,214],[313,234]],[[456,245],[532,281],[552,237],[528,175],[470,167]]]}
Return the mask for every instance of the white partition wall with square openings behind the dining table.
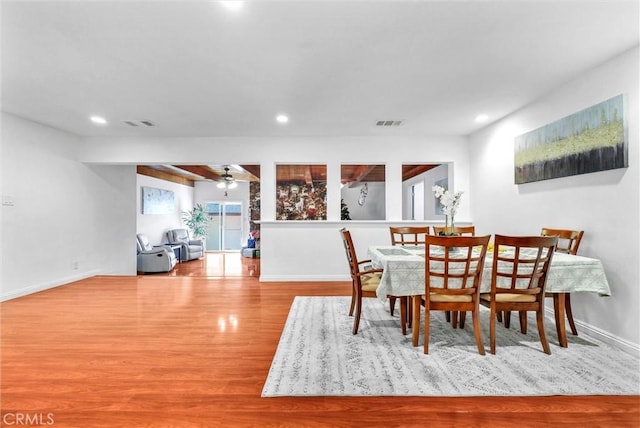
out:
{"label": "white partition wall with square openings behind the dining table", "polygon": [[[465,137],[88,138],[81,147],[80,159],[114,164],[260,164],[261,279],[264,281],[348,279],[338,229],[343,225],[357,227],[363,235],[376,236],[380,224],[340,222],[340,166],[343,163],[385,165],[385,211],[391,222],[402,222],[403,164],[449,163],[449,180],[455,183],[455,189],[467,192],[470,186]],[[274,222],[277,163],[327,165],[325,224]],[[197,189],[196,201],[200,201],[202,196]],[[460,221],[469,221],[469,213],[470,205],[465,203],[457,217]],[[331,230],[326,230],[327,227]],[[384,227],[388,228],[388,223],[384,223]],[[389,241],[388,229],[382,236],[384,242]]]}

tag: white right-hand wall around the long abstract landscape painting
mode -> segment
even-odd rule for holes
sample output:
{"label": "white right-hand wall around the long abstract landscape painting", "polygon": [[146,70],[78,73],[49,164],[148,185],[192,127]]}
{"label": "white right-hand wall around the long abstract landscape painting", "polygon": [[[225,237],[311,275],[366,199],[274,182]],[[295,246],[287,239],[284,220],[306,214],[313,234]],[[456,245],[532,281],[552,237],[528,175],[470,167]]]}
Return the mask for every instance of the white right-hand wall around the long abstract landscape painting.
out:
{"label": "white right-hand wall around the long abstract landscape painting", "polygon": [[[602,260],[611,297],[572,296],[574,318],[640,344],[638,49],[557,88],[470,138],[471,203],[478,233],[584,229],[579,253]],[[629,168],[514,184],[514,137],[625,95]]]}

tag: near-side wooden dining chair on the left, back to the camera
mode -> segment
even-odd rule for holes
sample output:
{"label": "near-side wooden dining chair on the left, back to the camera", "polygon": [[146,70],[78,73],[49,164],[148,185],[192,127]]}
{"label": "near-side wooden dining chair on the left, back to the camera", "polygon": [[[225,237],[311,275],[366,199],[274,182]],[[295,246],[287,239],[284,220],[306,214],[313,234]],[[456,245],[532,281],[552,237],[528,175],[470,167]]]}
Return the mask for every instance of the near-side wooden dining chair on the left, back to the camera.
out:
{"label": "near-side wooden dining chair on the left, back to the camera", "polygon": [[431,311],[471,312],[473,333],[484,355],[480,330],[480,283],[490,235],[428,236],[425,249],[424,353],[429,353]]}

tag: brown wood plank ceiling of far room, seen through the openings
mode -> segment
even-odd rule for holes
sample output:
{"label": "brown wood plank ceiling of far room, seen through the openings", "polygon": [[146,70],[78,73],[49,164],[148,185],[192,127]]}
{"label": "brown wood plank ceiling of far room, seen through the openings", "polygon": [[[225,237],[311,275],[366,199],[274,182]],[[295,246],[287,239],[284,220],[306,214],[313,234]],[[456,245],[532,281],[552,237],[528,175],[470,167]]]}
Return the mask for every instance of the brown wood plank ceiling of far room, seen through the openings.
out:
{"label": "brown wood plank ceiling of far room, seen through the openings", "polygon": [[[439,164],[402,165],[402,181],[422,174]],[[221,181],[224,168],[229,168],[238,181],[260,181],[260,165],[138,165],[141,175],[159,178],[174,183],[192,186],[196,181]],[[341,182],[357,184],[361,182],[385,181],[385,165],[342,165]],[[278,165],[276,168],[278,182],[311,182],[326,181],[327,168],[324,165]]]}

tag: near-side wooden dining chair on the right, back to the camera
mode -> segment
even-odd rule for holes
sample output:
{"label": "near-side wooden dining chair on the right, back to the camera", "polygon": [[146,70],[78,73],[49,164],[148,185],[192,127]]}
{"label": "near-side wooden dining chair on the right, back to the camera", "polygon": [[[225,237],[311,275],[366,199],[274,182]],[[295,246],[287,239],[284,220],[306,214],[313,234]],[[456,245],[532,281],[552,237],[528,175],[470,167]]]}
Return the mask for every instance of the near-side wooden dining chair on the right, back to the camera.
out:
{"label": "near-side wooden dining chair on the right, back to the camera", "polygon": [[[496,353],[497,314],[511,311],[519,313],[522,333],[526,333],[527,312],[536,313],[542,349],[551,354],[544,331],[544,288],[557,243],[557,236],[495,235],[491,291],[480,294],[480,304],[491,309],[489,334],[492,354]],[[508,327],[506,320],[505,327]]]}

